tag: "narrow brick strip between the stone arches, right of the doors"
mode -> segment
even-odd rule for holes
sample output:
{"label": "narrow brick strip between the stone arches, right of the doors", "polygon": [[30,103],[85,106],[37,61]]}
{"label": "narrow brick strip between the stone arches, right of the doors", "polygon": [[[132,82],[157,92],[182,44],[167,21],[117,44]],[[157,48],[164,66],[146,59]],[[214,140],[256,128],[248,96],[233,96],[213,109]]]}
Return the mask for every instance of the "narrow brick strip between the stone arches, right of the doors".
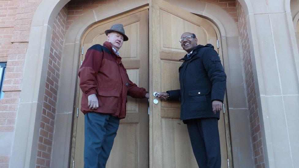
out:
{"label": "narrow brick strip between the stone arches, right of the doors", "polygon": [[248,29],[246,23],[246,14],[237,2],[238,24],[242,47],[243,66],[245,72],[246,94],[248,99],[249,121],[252,137],[252,147],[254,151],[254,159],[256,167],[265,167],[261,127],[259,122],[259,111],[256,100],[256,92],[254,86],[254,78],[252,71],[252,57],[250,52],[250,44],[248,38]]}

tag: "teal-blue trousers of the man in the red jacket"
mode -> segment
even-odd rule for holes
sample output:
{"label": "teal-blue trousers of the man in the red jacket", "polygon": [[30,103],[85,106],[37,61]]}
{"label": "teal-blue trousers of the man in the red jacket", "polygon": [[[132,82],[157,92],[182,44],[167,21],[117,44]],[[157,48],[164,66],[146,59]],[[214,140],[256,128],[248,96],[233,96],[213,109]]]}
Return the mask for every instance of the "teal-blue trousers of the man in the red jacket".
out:
{"label": "teal-blue trousers of the man in the red jacket", "polygon": [[119,119],[109,114],[86,113],[84,167],[104,168],[113,146]]}

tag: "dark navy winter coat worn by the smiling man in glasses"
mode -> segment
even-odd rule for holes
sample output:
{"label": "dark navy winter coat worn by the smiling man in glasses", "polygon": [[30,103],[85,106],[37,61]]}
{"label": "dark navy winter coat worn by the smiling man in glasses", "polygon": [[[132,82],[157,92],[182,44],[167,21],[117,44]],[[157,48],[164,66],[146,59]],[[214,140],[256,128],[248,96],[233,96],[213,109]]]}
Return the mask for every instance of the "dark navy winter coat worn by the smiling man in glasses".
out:
{"label": "dark navy winter coat worn by the smiling man in glasses", "polygon": [[214,114],[212,101],[223,102],[226,75],[218,53],[211,44],[198,45],[189,58],[187,54],[179,68],[180,89],[167,91],[169,100],[181,102],[181,120],[192,118],[219,119]]}

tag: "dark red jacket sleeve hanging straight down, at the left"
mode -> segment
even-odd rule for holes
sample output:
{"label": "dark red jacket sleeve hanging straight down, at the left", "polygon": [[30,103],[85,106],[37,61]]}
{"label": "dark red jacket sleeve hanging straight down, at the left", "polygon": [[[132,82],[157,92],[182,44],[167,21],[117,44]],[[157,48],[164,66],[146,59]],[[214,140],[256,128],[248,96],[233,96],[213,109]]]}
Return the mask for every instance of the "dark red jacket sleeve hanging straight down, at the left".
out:
{"label": "dark red jacket sleeve hanging straight down, at the left", "polygon": [[79,69],[80,88],[86,95],[97,94],[96,73],[100,70],[103,53],[98,50],[88,50]]}

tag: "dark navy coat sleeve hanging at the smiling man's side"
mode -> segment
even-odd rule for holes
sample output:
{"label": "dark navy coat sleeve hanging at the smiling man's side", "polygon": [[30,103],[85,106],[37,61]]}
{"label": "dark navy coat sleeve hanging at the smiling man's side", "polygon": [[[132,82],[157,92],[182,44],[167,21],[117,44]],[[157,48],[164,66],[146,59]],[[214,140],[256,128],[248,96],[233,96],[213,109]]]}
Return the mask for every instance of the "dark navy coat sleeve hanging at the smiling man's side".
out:
{"label": "dark navy coat sleeve hanging at the smiling man's side", "polygon": [[212,82],[211,100],[221,100],[223,102],[226,87],[226,74],[218,53],[214,49],[207,47],[202,55],[202,62],[210,81]]}

